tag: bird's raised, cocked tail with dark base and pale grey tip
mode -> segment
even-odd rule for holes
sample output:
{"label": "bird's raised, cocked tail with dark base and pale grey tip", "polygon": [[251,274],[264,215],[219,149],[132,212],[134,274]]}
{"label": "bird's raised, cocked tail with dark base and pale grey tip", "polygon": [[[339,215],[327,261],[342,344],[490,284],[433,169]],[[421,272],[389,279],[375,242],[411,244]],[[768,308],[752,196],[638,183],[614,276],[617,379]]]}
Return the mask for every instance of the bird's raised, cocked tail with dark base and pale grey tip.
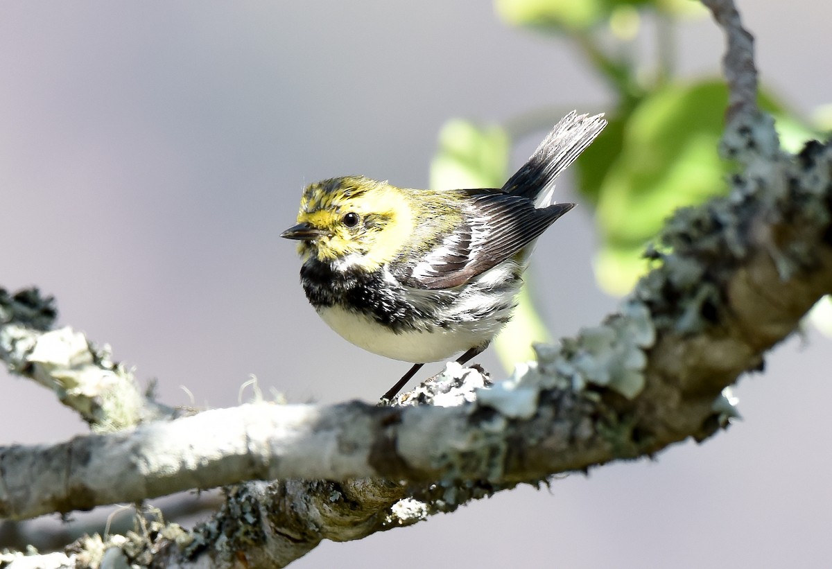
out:
{"label": "bird's raised, cocked tail with dark base and pale grey tip", "polygon": [[537,146],[528,161],[503,186],[503,191],[535,200],[537,207],[552,204],[552,182],[607,126],[604,115],[564,116]]}

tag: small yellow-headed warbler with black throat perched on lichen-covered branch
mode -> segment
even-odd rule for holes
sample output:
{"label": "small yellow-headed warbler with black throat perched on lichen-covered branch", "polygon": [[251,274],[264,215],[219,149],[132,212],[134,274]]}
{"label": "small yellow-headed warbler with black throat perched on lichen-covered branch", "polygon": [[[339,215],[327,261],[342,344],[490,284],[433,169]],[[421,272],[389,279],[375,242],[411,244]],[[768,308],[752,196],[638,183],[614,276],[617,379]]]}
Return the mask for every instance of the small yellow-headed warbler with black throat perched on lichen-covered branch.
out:
{"label": "small yellow-headed warbler with black throat perched on lichen-covered branch", "polygon": [[575,204],[553,181],[602,131],[603,115],[572,111],[500,189],[414,190],[364,176],[306,186],[297,225],[300,282],[349,342],[413,363],[465,364],[512,317],[537,237]]}

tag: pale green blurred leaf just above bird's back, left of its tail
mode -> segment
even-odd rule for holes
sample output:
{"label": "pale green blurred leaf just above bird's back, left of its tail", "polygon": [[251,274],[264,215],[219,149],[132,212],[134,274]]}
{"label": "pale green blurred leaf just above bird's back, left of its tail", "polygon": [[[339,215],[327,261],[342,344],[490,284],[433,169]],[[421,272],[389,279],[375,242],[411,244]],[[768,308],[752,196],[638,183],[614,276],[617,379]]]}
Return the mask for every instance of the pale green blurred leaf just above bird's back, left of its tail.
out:
{"label": "pale green blurred leaf just above bird's back, left of its tail", "polygon": [[430,163],[430,187],[499,188],[508,179],[508,151],[508,135],[499,126],[448,121],[439,131],[439,148]]}

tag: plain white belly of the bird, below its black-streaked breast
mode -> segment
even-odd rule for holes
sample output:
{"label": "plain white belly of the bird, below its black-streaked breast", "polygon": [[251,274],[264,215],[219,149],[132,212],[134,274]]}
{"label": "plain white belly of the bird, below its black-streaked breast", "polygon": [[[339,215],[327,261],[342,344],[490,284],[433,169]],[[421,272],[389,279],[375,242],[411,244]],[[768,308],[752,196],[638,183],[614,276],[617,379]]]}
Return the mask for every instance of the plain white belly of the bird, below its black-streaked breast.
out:
{"label": "plain white belly of the bird, below its black-streaked breast", "polygon": [[473,346],[492,338],[493,330],[473,330],[464,326],[453,329],[436,328],[432,331],[404,331],[396,334],[363,314],[356,314],[329,306],[319,310],[329,328],[359,348],[364,348],[385,358],[424,364],[449,359]]}

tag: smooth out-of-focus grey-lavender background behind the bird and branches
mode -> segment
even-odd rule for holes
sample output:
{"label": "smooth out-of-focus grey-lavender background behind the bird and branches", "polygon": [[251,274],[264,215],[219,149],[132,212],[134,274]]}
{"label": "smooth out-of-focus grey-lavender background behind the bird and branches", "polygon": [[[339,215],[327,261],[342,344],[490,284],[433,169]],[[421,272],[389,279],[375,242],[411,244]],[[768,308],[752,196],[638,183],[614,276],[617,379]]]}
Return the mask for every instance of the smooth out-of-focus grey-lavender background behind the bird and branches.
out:
{"label": "smooth out-of-focus grey-lavender background behind the bird and branches", "polygon": [[[306,303],[295,244],[280,239],[303,186],[348,174],[428,186],[454,117],[522,134],[513,169],[557,116],[621,108],[580,34],[509,25],[500,3],[503,17],[478,0],[3,2],[0,286],[53,294],[59,324],[111,344],[166,403],[235,405],[252,374],[293,403],[374,401],[409,364],[347,344]],[[764,82],[808,121],[832,98],[832,4],[740,10]],[[627,48],[649,59],[668,28],[635,23]],[[710,19],[670,31],[673,52],[658,51],[676,76],[715,77]],[[585,206],[547,231],[532,269],[555,338],[617,305],[593,270],[608,228],[572,181],[558,200]],[[324,542],[293,567],[828,567],[828,354],[814,329],[775,349],[735,390],[743,420],[702,445]],[[505,377],[493,350],[478,362]],[[34,383],[0,372],[0,385],[0,444],[87,432]],[[102,531],[110,512],[5,524],[0,548]]]}

